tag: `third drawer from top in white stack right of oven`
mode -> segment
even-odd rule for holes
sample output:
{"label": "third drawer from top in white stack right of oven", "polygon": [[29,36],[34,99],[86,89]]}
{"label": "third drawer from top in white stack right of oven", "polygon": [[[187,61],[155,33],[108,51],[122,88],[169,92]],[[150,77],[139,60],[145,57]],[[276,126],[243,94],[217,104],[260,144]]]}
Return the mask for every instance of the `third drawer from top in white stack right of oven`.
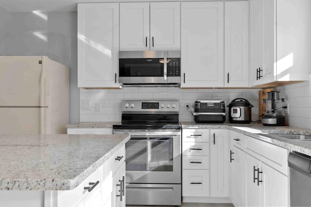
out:
{"label": "third drawer from top in white stack right of oven", "polygon": [[183,156],[183,169],[208,169],[208,156]]}

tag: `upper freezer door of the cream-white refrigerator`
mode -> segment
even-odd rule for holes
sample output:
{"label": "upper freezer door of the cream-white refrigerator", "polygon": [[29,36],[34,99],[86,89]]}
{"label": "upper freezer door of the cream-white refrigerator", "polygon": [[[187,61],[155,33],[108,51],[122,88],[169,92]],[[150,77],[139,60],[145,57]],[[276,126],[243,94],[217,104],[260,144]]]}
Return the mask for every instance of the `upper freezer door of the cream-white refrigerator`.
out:
{"label": "upper freezer door of the cream-white refrigerator", "polygon": [[0,107],[45,106],[42,56],[0,56]]}

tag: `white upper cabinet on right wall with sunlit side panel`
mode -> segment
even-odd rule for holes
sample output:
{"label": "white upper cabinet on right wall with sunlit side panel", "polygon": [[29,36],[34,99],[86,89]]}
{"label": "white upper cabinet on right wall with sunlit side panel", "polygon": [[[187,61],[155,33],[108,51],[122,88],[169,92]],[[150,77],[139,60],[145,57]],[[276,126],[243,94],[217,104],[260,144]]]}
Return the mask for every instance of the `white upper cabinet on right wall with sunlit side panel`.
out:
{"label": "white upper cabinet on right wall with sunlit side panel", "polygon": [[311,1],[249,3],[250,85],[270,87],[309,80]]}

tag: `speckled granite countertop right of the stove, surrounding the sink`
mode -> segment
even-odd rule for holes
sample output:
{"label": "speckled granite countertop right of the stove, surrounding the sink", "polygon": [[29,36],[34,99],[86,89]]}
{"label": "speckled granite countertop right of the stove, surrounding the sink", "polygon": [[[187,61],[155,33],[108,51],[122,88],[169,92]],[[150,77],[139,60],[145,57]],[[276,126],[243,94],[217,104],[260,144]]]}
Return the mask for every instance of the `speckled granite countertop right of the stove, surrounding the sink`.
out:
{"label": "speckled granite countertop right of the stove, surrounding the sink", "polygon": [[311,135],[310,129],[299,127],[268,127],[262,124],[196,124],[195,122],[181,122],[182,128],[228,128],[242,134],[254,137],[264,142],[294,150],[311,156],[311,140],[291,140],[274,134],[304,134]]}

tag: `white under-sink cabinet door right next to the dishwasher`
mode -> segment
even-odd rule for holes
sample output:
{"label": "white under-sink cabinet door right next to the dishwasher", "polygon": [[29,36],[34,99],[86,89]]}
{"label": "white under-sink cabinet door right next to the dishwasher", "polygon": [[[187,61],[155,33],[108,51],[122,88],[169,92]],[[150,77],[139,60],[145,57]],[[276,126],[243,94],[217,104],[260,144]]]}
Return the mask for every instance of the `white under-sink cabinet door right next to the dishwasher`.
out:
{"label": "white under-sink cabinet door right next to the dishwasher", "polygon": [[259,184],[261,188],[261,203],[264,207],[287,207],[288,203],[288,177],[274,168],[261,162],[261,175]]}

